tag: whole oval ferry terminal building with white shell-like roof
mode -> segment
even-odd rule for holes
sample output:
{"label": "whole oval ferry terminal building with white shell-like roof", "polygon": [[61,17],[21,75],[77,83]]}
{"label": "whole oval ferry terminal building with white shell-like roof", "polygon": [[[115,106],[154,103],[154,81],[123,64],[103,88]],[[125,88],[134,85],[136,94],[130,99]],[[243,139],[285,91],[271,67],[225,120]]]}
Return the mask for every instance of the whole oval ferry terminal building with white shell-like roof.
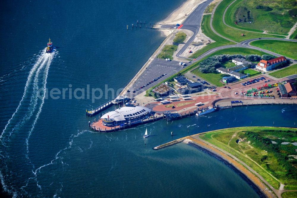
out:
{"label": "whole oval ferry terminal building with white shell-like roof", "polygon": [[105,126],[117,126],[146,119],[150,112],[151,109],[143,106],[125,106],[104,114],[100,119],[103,119],[102,123]]}

